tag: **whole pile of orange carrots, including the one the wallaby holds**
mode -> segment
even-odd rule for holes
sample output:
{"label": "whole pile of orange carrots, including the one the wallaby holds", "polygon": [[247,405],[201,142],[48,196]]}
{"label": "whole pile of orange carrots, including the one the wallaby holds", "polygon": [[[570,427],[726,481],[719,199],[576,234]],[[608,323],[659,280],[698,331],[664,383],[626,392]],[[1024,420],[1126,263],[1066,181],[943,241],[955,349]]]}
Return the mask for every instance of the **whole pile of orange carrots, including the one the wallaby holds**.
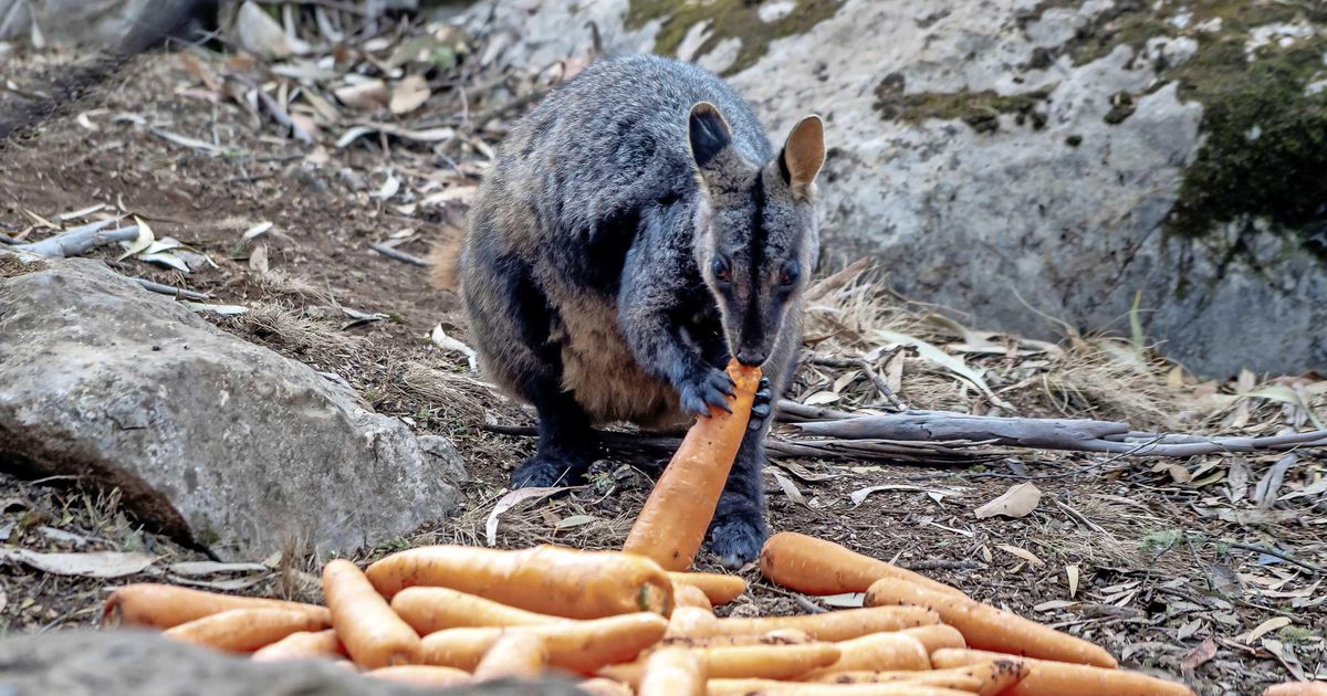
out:
{"label": "whole pile of orange carrots, including the one the wallaby holds", "polygon": [[130,585],[111,594],[104,624],[425,685],[561,673],[602,696],[1193,693],[1119,669],[1087,640],[796,533],[766,542],[766,579],[811,595],[865,593],[865,606],[717,616],[714,607],[746,593],[746,581],[687,569],[759,382],[755,370],[731,366],[730,375],[731,412],[717,410],[691,428],[622,551],[423,546],[366,570],[337,559],[322,569],[325,606]]}

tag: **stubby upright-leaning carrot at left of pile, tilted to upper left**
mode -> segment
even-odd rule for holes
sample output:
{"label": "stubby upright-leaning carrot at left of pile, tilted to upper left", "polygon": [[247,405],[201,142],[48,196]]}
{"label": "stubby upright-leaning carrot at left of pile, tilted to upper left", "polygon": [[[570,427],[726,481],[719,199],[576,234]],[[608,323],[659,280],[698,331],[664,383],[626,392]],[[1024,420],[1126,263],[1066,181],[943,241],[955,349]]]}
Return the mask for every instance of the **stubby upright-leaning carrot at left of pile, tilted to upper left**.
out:
{"label": "stubby upright-leaning carrot at left of pile, tilted to upper left", "polygon": [[332,627],[354,664],[369,669],[419,662],[419,635],[387,606],[354,563],[322,566],[322,595]]}

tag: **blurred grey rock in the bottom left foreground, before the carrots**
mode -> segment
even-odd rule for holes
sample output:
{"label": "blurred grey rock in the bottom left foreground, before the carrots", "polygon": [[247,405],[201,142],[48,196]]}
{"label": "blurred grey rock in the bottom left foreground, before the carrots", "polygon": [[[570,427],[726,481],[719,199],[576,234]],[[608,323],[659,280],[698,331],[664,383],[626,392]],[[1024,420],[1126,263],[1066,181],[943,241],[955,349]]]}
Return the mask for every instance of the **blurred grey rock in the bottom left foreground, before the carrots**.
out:
{"label": "blurred grey rock in the bottom left foreground, before the carrots", "polygon": [[149,631],[60,631],[0,640],[0,696],[584,696],[553,679],[425,689],[329,662],[253,663]]}

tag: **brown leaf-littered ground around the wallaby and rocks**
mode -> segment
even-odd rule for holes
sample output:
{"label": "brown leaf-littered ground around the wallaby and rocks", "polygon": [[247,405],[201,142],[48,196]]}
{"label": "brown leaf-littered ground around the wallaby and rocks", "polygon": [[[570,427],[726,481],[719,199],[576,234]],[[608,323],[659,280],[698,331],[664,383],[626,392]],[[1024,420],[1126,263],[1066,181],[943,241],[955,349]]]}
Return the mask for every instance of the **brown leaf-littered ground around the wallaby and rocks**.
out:
{"label": "brown leaf-littered ground around the wallaby and rocks", "polygon": [[[348,66],[365,70],[364,54],[374,52],[381,65],[390,48],[357,44],[333,65],[337,77],[311,78],[303,89],[329,97],[324,87],[341,84]],[[121,260],[113,247],[89,256],[126,276],[210,293],[214,305],[247,308],[243,314],[203,316],[341,375],[377,410],[409,419],[421,434],[454,437],[471,477],[459,514],[366,549],[358,559],[417,544],[484,544],[486,520],[507,493],[508,473],[531,451],[529,439],[484,426],[528,426],[532,415],[468,374],[462,354],[429,339],[441,322],[451,338],[468,342],[455,296],[431,289],[425,268],[389,259],[369,244],[422,257],[454,233],[490,143],[500,141],[506,105],[516,113],[537,93],[540,80],[556,80],[576,66],[532,66],[531,76],[498,82],[449,62],[429,70],[434,94],[409,115],[386,115],[381,107],[356,111],[330,99],[320,113],[322,106],[303,101],[289,113],[307,119],[299,121],[305,130],[318,126],[318,145],[305,145],[268,107],[248,106],[261,103],[248,97],[255,87],[279,103],[296,102],[295,80],[268,72],[261,61],[190,56],[139,58],[96,95],[0,150],[0,235],[41,239],[50,233],[46,223],[61,213],[101,204],[98,212],[137,216],[158,239],[171,236],[207,255],[215,268],[176,249],[195,261],[190,273],[137,257]],[[9,60],[15,70],[5,77],[16,82],[16,93],[36,89],[68,62],[23,53]],[[312,64],[300,65],[313,72]],[[460,95],[458,84],[468,86],[468,94]],[[354,97],[342,95],[342,102]],[[413,134],[374,126],[384,122]],[[376,133],[345,147],[334,145],[365,123]],[[265,223],[271,227],[259,227]],[[869,379],[878,377],[912,407],[1127,419],[1139,430],[1258,435],[1310,428],[1314,418],[1327,415],[1320,377],[1250,374],[1231,383],[1202,382],[1160,363],[1141,337],[1107,341],[1070,330],[1062,345],[1046,346],[970,331],[938,323],[930,308],[890,297],[874,280],[878,274],[851,278],[812,306],[805,359],[788,398],[849,411],[885,408],[889,390]],[[373,317],[362,321],[354,313]],[[979,325],[981,318],[967,323]],[[890,341],[881,330],[922,337],[949,351],[937,358],[885,350]],[[856,362],[873,349],[881,349],[868,355],[880,375],[864,374]],[[985,370],[994,394],[955,377],[966,369],[955,357]],[[1235,395],[1254,387],[1267,396]],[[790,435],[783,430],[779,436]],[[947,467],[780,460],[767,473],[771,526],[917,569],[978,599],[1096,640],[1128,668],[1188,677],[1204,695],[1255,693],[1273,680],[1327,675],[1320,453],[1289,460],[1267,497],[1257,484],[1270,481],[1273,467],[1287,461],[1282,453],[1160,460],[978,449],[991,452],[986,461]],[[620,546],[648,492],[641,469],[649,472],[657,459],[608,456],[589,487],[552,501],[527,501],[502,516],[496,544]],[[1042,491],[1030,514],[974,516],[979,505],[1028,481]],[[863,493],[868,488],[874,491]],[[147,550],[162,557],[147,573],[110,581],[5,563],[4,631],[96,623],[106,591],[134,581],[165,578],[260,595],[317,593],[309,570],[325,559],[300,549],[253,559],[269,571],[190,574],[188,566],[173,563],[206,557],[142,529],[113,491],[11,476],[0,491],[0,542],[11,548]],[[865,497],[855,501],[855,493]],[[698,565],[714,569],[710,563],[702,558]],[[740,573],[752,589],[725,611],[776,614],[825,603],[771,586],[754,566]]]}

